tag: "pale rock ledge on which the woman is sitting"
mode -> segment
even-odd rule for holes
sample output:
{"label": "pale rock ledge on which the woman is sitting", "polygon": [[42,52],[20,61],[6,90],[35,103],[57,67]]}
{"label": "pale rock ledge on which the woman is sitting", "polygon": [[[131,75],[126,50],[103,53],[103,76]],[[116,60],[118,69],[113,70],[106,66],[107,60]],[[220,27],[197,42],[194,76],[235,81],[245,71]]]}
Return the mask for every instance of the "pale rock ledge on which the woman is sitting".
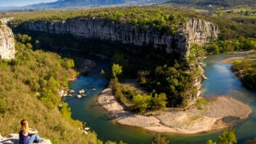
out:
{"label": "pale rock ledge on which the woman is sitting", "polygon": [[[0,144],[19,144],[19,134],[10,134],[10,138],[4,138],[0,135]],[[44,142],[40,144],[52,144],[50,140],[42,139]]]}

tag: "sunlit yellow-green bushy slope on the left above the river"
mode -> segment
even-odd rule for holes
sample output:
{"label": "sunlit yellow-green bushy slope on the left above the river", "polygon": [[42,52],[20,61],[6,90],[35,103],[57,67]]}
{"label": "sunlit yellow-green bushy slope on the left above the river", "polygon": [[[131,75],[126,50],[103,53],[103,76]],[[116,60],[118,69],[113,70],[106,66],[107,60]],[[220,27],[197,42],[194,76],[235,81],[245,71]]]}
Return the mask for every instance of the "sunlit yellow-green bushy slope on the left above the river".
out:
{"label": "sunlit yellow-green bushy slope on the left above the river", "polygon": [[15,60],[0,61],[0,133],[19,132],[19,122],[26,118],[40,136],[52,143],[96,143],[96,134],[82,134],[78,128],[83,129],[83,124],[70,118],[67,105],[62,103],[59,109],[60,97],[55,91],[50,92],[55,90],[51,83],[60,83],[56,88],[64,88],[67,77],[74,74],[61,66],[63,58],[52,52],[34,51],[20,42],[15,47]]}

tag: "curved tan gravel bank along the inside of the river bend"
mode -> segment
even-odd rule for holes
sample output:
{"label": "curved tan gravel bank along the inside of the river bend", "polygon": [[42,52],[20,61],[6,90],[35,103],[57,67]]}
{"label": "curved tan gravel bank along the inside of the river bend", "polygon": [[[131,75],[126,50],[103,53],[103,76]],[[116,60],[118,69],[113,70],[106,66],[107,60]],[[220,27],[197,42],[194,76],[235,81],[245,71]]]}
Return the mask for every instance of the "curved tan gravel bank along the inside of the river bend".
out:
{"label": "curved tan gravel bank along the inside of the river bend", "polygon": [[116,101],[111,88],[106,88],[100,93],[98,102],[118,124],[180,134],[223,129],[240,122],[252,113],[249,106],[232,97],[214,97],[203,109],[191,105],[186,109],[166,108],[136,115],[125,111]]}

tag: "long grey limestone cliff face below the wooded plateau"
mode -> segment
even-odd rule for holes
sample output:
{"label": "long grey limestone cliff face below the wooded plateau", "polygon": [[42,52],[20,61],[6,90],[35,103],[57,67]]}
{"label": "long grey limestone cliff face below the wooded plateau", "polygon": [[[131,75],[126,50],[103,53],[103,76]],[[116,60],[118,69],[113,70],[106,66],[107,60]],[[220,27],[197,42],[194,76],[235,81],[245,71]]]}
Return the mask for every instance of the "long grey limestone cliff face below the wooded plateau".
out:
{"label": "long grey limestone cliff face below the wooded plateau", "polygon": [[189,45],[204,44],[218,37],[216,26],[201,19],[188,19],[183,28],[174,35],[160,34],[157,31],[136,29],[130,24],[102,19],[68,19],[56,22],[27,22],[22,28],[48,33],[72,34],[84,38],[122,42],[122,44],[153,45],[175,52],[180,56],[189,54]]}

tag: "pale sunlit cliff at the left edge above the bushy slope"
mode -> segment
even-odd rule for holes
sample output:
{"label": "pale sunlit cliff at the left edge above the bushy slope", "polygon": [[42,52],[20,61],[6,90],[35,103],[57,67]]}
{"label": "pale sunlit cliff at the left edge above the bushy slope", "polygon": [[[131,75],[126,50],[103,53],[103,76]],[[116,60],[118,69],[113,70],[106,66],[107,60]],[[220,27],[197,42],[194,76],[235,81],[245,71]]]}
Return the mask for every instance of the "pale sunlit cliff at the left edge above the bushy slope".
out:
{"label": "pale sunlit cliff at the left edge above the bushy slope", "polygon": [[6,23],[8,19],[0,20],[0,60],[10,60],[15,57],[15,42],[12,29]]}

